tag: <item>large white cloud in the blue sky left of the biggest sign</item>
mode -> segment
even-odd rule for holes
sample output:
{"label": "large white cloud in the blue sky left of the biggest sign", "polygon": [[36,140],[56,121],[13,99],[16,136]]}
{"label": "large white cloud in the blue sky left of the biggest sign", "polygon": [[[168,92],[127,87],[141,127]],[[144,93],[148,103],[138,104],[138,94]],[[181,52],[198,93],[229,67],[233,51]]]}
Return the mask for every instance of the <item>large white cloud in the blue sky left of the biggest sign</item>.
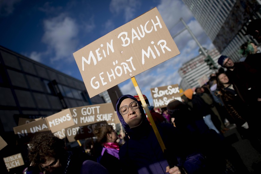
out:
{"label": "large white cloud in the blue sky left of the biggest sign", "polygon": [[61,14],[57,17],[44,20],[44,36],[42,42],[55,52],[51,61],[66,59],[72,61],[72,54],[77,48],[78,28],[74,19]]}

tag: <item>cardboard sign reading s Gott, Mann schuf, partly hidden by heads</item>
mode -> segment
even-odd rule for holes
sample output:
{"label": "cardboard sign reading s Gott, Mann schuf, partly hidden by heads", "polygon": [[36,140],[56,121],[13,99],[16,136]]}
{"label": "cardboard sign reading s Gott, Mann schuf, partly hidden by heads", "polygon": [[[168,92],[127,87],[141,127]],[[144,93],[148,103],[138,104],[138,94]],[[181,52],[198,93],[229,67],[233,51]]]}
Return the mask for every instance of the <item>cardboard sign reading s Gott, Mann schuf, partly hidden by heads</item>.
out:
{"label": "cardboard sign reading s Gott, Mann schuf, partly hidden by heads", "polygon": [[93,136],[92,132],[91,134],[86,133],[86,130],[88,129],[87,132],[90,132],[91,127],[97,126],[96,123],[98,122],[105,121],[105,124],[110,124],[113,126],[113,129],[116,129],[115,111],[112,103],[70,108],[70,111],[75,125],[65,129],[65,135],[68,141],[77,140],[76,135],[77,138],[80,137],[81,139]]}

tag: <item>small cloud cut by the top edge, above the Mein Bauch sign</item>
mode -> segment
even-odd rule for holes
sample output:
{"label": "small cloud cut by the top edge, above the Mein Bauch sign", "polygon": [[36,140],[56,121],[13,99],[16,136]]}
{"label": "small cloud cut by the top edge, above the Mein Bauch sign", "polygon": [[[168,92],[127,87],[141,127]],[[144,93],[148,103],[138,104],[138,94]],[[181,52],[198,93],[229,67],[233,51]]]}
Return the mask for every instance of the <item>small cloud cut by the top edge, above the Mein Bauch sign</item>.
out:
{"label": "small cloud cut by the top edge, above the Mein Bauch sign", "polygon": [[141,6],[138,0],[112,0],[110,3],[110,11],[116,15],[123,12],[125,22],[134,19],[136,9]]}

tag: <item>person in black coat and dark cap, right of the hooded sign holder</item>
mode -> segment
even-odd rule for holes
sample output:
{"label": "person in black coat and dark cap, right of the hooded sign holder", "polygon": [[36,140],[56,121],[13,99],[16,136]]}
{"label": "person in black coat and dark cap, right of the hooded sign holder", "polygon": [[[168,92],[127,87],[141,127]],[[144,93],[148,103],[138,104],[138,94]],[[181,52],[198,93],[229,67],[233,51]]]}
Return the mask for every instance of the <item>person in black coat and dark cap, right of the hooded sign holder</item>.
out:
{"label": "person in black coat and dark cap, right of the hooded sign holder", "polygon": [[[194,111],[186,104],[172,100],[168,103],[167,109],[174,118],[176,128],[182,132],[184,137],[195,142],[194,150],[198,150],[206,156],[208,173],[225,174],[229,170],[248,173],[236,149],[216,131],[209,129],[203,118],[196,117]],[[233,169],[227,168],[227,161],[232,164]]]}

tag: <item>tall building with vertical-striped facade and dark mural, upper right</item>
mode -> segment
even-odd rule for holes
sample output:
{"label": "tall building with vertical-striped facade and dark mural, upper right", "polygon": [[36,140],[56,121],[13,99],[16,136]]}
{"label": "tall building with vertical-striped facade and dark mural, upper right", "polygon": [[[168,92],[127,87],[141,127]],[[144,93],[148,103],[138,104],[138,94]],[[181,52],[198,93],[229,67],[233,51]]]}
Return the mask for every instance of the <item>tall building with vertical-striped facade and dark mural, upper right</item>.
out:
{"label": "tall building with vertical-striped facade and dark mural, upper right", "polygon": [[244,34],[249,20],[261,18],[260,0],[182,1],[222,55],[236,62],[242,57],[238,50],[243,43],[258,45]]}

